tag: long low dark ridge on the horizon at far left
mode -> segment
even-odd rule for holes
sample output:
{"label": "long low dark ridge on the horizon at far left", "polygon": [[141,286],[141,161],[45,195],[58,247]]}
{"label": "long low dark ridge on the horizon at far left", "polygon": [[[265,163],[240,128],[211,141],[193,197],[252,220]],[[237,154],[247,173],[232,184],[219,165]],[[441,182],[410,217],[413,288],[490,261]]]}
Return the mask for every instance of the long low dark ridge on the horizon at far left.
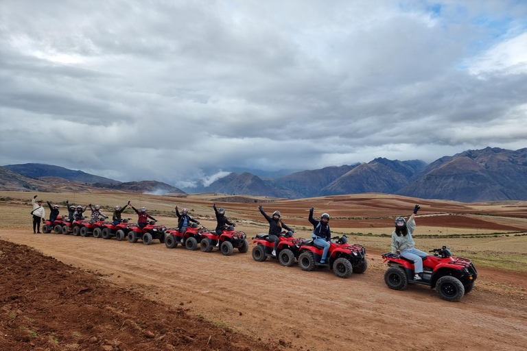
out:
{"label": "long low dark ridge on the horizon at far left", "polygon": [[3,167],[32,178],[60,177],[84,183],[119,183],[117,180],[99,177],[99,175],[93,175],[83,171],[73,171],[64,167],[43,165],[41,163],[25,163],[24,165],[6,165]]}

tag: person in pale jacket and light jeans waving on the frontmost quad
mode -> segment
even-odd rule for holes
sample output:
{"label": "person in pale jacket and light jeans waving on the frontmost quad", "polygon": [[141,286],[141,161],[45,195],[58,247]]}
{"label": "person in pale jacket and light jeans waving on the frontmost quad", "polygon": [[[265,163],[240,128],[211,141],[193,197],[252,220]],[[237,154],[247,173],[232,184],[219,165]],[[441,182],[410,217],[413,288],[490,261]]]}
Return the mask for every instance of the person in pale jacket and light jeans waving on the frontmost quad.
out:
{"label": "person in pale jacket and light jeans waving on the frontmost quad", "polygon": [[392,254],[401,252],[401,256],[408,258],[414,262],[414,280],[422,280],[420,273],[423,273],[423,258],[428,254],[426,252],[419,251],[414,248],[415,243],[412,239],[412,233],[415,230],[414,217],[417,215],[417,211],[421,208],[419,205],[415,205],[414,213],[405,221],[403,217],[397,217],[395,219],[395,230],[392,233]]}

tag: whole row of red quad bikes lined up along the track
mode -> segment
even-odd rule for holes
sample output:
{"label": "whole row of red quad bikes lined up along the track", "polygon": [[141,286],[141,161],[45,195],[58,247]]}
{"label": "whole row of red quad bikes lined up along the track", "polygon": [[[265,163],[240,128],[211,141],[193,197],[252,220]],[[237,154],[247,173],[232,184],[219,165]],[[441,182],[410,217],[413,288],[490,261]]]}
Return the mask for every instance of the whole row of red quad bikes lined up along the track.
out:
{"label": "whole row of red quad bikes lined up along the track", "polygon": [[[235,231],[232,226],[218,235],[207,228],[198,228],[193,223],[185,233],[181,233],[177,228],[156,225],[155,221],[150,221],[147,226],[139,228],[136,223],[130,223],[128,220],[124,219],[115,226],[112,221],[105,221],[102,217],[95,223],[86,220],[69,223],[67,219],[59,216],[53,223],[44,221],[43,232],[73,234],[81,237],[92,235],[103,239],[115,237],[118,241],[128,239],[130,243],[142,240],[145,245],[150,245],[152,240],[159,240],[171,249],[183,245],[188,250],[197,250],[199,243],[202,252],[211,252],[217,247],[226,256],[233,254],[234,249],[241,253],[249,249],[246,234]],[[270,257],[277,259],[285,267],[290,267],[298,261],[298,266],[304,271],[312,271],[317,267],[331,269],[339,278],[349,278],[352,273],[364,273],[368,267],[364,246],[349,244],[345,235],[332,239],[334,241],[331,242],[325,263],[320,263],[323,247],[316,245],[311,239],[295,238],[292,232],[281,232],[276,256],[272,255],[274,242],[270,241],[269,235],[257,234],[253,237],[253,244],[256,245],[253,247],[252,255],[257,262],[266,261]],[[472,291],[478,271],[470,260],[453,257],[446,246],[430,252],[433,254],[422,257],[422,280],[412,280],[414,276],[412,261],[400,254],[390,252],[382,254],[384,262],[388,263],[388,269],[384,274],[386,285],[395,290],[406,289],[410,284],[427,285],[432,289],[436,288],[441,298],[447,301],[459,301],[466,293]]]}

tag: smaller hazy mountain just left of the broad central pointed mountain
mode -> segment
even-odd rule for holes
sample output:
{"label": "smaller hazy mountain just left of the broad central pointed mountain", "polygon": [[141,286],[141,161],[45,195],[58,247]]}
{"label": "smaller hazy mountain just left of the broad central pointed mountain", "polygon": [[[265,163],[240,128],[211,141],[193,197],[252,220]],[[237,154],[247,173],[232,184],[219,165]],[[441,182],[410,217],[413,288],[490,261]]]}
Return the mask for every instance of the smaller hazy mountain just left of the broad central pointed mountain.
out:
{"label": "smaller hazy mountain just left of the broad central pointed mountain", "polygon": [[301,171],[285,175],[285,177],[277,178],[274,180],[275,184],[291,189],[302,197],[313,197],[316,196],[320,189],[339,178],[341,175],[351,171],[351,169],[357,167],[360,164],[355,165],[342,165],[340,167],[325,167],[323,169],[314,169],[312,171]]}

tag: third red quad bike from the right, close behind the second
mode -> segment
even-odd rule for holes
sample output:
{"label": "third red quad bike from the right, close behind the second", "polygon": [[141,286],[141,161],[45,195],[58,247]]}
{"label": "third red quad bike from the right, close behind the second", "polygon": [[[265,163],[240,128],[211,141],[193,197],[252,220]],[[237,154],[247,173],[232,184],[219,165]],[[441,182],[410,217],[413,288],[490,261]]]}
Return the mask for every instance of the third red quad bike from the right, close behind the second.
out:
{"label": "third red quad bike from the right, close behind the second", "polygon": [[305,239],[293,237],[293,232],[281,232],[278,235],[280,239],[277,247],[277,256],[272,255],[274,241],[269,241],[269,234],[259,233],[253,238],[253,259],[257,262],[266,261],[268,257],[277,258],[279,263],[285,267],[294,265],[295,258],[300,256],[300,247]]}

